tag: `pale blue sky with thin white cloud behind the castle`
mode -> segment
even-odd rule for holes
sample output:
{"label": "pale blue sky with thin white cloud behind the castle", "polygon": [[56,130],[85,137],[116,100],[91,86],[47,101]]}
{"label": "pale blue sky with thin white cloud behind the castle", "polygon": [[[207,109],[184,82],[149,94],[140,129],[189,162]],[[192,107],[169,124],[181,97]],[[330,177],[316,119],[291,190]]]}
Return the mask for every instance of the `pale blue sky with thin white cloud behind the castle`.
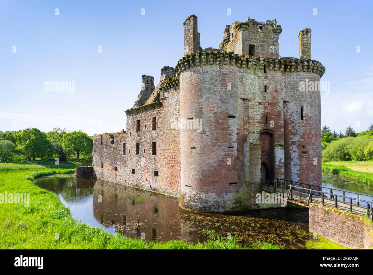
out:
{"label": "pale blue sky with thin white cloud behind the castle", "polygon": [[[298,57],[298,33],[310,27],[312,59],[326,67],[322,80],[331,88],[321,93],[322,124],[361,132],[373,123],[372,7],[371,1],[0,1],[0,130],[125,129],[124,111],[137,99],[141,75],[154,76],[157,85],[160,69],[175,67],[184,54],[183,22],[195,14],[203,48],[218,47],[225,25],[250,16],[277,19],[280,55]],[[50,79],[74,81],[73,94],[44,91]]]}

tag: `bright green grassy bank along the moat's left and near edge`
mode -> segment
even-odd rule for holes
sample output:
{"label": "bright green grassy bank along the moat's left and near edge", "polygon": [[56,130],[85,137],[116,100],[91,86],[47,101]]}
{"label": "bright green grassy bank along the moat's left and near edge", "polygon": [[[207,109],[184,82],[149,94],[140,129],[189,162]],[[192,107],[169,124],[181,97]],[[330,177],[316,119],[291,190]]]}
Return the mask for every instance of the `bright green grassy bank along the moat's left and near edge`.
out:
{"label": "bright green grassy bank along the moat's left and near edge", "polygon": [[[19,164],[30,165],[30,164]],[[31,164],[35,165],[35,164]],[[40,165],[40,164],[36,164]],[[0,248],[14,249],[242,249],[237,238],[229,240],[216,234],[195,245],[181,240],[168,242],[130,239],[113,235],[93,226],[80,223],[70,215],[56,194],[39,188],[32,180],[41,175],[72,172],[71,165],[64,168],[2,167],[0,193],[30,194],[29,206],[0,204]],[[30,174],[32,176],[30,176]],[[277,249],[263,241],[253,243],[251,249]]]}

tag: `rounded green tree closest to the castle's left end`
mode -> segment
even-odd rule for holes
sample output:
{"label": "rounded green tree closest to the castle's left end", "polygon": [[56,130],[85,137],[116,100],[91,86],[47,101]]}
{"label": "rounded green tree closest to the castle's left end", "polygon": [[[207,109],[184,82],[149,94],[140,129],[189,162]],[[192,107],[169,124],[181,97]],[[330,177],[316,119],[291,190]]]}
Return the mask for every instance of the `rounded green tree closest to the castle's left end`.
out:
{"label": "rounded green tree closest to the castle's left end", "polygon": [[76,155],[78,159],[80,155],[92,152],[92,138],[81,131],[66,133],[61,141],[66,154]]}

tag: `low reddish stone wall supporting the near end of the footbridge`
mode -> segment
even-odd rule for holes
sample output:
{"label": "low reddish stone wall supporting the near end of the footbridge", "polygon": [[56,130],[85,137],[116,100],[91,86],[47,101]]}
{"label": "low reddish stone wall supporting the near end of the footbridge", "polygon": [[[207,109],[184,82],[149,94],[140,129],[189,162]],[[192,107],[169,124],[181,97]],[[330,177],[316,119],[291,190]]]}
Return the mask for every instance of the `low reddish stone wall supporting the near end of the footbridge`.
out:
{"label": "low reddish stone wall supporting the near end of the footbridge", "polygon": [[373,224],[347,211],[310,204],[310,231],[351,249],[373,248]]}

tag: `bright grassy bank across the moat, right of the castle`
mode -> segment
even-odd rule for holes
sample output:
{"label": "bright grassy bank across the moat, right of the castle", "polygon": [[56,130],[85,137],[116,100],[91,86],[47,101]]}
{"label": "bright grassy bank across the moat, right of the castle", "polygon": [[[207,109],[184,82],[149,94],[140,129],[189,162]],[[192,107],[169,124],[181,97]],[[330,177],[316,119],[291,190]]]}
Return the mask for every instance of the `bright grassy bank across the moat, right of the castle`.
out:
{"label": "bright grassy bank across the moat, right of the castle", "polygon": [[355,171],[342,164],[322,163],[322,172],[331,172],[373,186],[373,173]]}

